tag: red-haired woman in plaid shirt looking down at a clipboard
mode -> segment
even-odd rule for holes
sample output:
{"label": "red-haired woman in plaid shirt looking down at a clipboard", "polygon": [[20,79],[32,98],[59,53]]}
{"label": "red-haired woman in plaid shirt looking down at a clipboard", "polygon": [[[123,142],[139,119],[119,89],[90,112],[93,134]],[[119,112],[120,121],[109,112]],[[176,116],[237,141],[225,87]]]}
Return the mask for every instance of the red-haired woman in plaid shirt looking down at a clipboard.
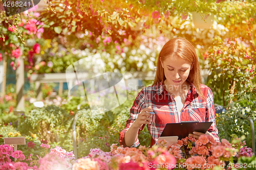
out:
{"label": "red-haired woman in plaid shirt looking down at a clipboard", "polygon": [[[194,46],[184,38],[166,42],[158,57],[154,84],[139,92],[126,127],[119,134],[119,143],[137,147],[140,144],[138,133],[147,124],[152,147],[165,124],[193,120],[213,122],[206,134],[219,141],[214,96],[211,89],[200,84],[200,81],[199,62]],[[202,134],[193,132],[189,136],[198,139]]]}

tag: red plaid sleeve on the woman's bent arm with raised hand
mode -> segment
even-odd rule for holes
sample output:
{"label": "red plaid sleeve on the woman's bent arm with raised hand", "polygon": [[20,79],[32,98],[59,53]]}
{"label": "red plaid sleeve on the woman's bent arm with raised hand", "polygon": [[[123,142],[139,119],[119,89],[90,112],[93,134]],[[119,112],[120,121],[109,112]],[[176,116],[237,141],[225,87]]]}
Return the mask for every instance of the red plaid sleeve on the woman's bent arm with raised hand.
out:
{"label": "red plaid sleeve on the woman's bent arm with raised hand", "polygon": [[[125,132],[132,126],[132,124],[134,123],[135,119],[138,117],[139,113],[141,112],[141,110],[144,109],[144,94],[143,94],[143,90],[141,90],[134,103],[133,103],[133,106],[130,110],[130,117],[129,119],[126,121],[126,126],[125,128],[119,133],[119,143],[120,145],[125,145],[125,141],[124,141],[124,134]],[[139,131],[138,131],[138,134],[140,131],[143,130],[145,124],[139,128]],[[133,145],[131,146],[132,147],[138,147],[138,145],[140,144],[139,142],[139,139],[138,139],[138,134],[137,134],[137,137],[136,137],[136,141],[133,143]]]}

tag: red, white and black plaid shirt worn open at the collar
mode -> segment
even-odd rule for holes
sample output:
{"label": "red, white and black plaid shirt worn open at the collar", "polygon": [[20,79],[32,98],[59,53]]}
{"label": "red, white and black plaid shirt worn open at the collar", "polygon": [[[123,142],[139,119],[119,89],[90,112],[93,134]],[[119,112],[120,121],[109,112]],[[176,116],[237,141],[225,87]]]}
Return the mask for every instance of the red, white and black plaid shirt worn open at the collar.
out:
{"label": "red, white and black plaid shirt worn open at the collar", "polygon": [[[212,122],[208,132],[216,141],[220,141],[215,122],[214,95],[211,89],[206,85],[200,84],[202,94],[205,96],[205,99],[202,99],[195,86],[189,81],[188,83],[190,88],[181,110],[180,121]],[[138,93],[130,110],[130,118],[126,121],[126,127],[119,133],[120,145],[125,146],[124,133],[132,126],[141,110],[149,106],[155,112],[152,116],[151,125],[147,124],[147,129],[151,134],[151,147],[157,142],[165,124],[179,123],[176,102],[173,96],[164,89],[163,81],[159,82],[154,86],[142,89]],[[139,128],[139,132],[143,130],[144,126],[145,124]],[[137,135],[136,141],[131,147],[138,147],[139,144]]]}

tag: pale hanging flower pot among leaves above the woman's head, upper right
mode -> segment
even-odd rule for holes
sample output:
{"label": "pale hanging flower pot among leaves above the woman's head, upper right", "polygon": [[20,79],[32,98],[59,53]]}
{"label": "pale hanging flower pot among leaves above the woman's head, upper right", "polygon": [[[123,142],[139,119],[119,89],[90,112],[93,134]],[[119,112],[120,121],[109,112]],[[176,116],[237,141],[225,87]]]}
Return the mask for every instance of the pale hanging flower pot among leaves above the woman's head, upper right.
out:
{"label": "pale hanging flower pot among leaves above the woman's head, upper right", "polygon": [[191,14],[195,28],[209,29],[212,23],[214,23],[214,15],[206,16],[206,14],[201,14],[205,20],[204,22],[202,16],[199,13],[191,12]]}

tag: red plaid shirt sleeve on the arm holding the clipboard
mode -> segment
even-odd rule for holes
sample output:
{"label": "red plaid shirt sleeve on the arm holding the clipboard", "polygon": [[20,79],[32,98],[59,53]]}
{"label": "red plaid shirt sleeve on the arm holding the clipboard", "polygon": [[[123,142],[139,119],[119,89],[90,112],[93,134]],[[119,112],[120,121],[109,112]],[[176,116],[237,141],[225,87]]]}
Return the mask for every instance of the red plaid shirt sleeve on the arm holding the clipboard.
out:
{"label": "red plaid shirt sleeve on the arm holding the clipboard", "polygon": [[214,107],[214,95],[210,88],[208,88],[207,93],[207,102],[206,102],[206,115],[205,115],[205,122],[212,122],[208,132],[211,134],[212,137],[215,138],[216,141],[220,141],[218,137],[218,129],[216,127],[216,120],[215,120],[215,107]]}

